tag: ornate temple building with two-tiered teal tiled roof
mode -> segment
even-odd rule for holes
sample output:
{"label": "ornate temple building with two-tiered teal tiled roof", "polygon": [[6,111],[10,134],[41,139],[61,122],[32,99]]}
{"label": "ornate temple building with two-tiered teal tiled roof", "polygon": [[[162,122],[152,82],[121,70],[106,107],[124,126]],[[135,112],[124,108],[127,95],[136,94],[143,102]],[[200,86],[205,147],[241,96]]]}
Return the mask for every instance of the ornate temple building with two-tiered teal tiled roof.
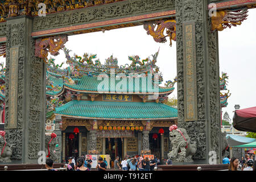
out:
{"label": "ornate temple building with two-tiered teal tiled roof", "polygon": [[131,64],[125,66],[118,66],[113,56],[101,64],[96,55],[64,52],[69,67],[61,69],[50,59],[46,73],[46,134],[59,137],[56,155],[61,161],[86,154],[109,154],[112,160],[141,154],[167,159],[177,109],[163,103],[176,78],[159,86],[159,52],[152,60],[129,56]]}

